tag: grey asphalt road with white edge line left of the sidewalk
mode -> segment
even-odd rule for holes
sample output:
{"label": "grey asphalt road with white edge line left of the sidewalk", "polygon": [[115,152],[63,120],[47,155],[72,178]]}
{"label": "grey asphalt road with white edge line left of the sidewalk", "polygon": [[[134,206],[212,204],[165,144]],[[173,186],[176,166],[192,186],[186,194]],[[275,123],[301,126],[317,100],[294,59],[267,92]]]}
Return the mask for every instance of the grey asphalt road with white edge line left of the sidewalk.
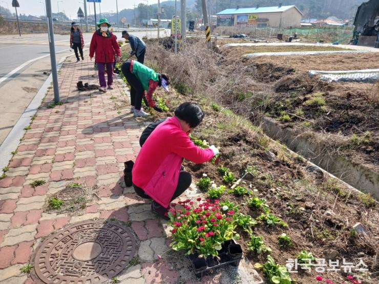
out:
{"label": "grey asphalt road with white edge line left of the sidewalk", "polygon": [[[115,34],[121,39],[120,32]],[[157,31],[140,31],[133,34],[139,37],[156,37]],[[163,36],[164,32],[161,31],[160,34]],[[92,33],[83,36],[88,47]],[[63,56],[72,54],[69,51],[69,35],[54,35],[54,39],[57,61]],[[1,144],[47,79],[43,72],[51,69],[48,35],[0,36],[0,53],[2,54],[0,64]],[[9,76],[11,72],[14,74]]]}

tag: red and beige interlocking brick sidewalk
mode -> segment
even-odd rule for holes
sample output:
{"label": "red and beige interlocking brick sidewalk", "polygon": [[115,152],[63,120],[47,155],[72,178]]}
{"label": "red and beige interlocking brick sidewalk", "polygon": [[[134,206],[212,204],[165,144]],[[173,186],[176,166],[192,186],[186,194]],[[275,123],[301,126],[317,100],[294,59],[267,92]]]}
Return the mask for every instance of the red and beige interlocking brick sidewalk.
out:
{"label": "red and beige interlocking brick sidewalk", "polygon": [[[97,219],[128,222],[124,224],[137,236],[139,264],[118,276],[122,283],[196,282],[184,257],[181,264],[177,259],[173,264],[172,256],[157,260],[157,255],[168,249],[170,238],[165,231],[169,235],[169,228],[150,211],[150,203],[124,185],[123,162],[135,159],[146,121],[129,113],[122,83],[115,82],[115,90],[106,94],[79,93],[78,80],[98,84],[89,59],[75,63],[71,57],[58,73],[64,104],[48,107],[53,101],[50,89],[31,129],[19,142],[7,177],[0,180],[0,283],[34,283],[20,268],[33,264],[32,254],[41,241],[65,226]],[[36,180],[46,183],[34,188],[30,184]],[[99,200],[77,215],[44,212],[48,196],[72,182],[86,188],[97,186]],[[194,188],[187,193],[183,199],[197,194]],[[228,272],[220,272],[216,278],[222,274]],[[224,279],[229,281],[229,277]],[[218,282],[207,276],[200,282],[214,281]]]}

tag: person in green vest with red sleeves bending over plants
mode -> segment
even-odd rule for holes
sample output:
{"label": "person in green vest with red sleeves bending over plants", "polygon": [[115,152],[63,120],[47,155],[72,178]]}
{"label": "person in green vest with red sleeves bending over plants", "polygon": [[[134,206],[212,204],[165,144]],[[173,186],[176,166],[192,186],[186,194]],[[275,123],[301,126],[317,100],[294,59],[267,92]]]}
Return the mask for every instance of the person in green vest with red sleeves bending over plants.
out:
{"label": "person in green vest with red sleeves bending over plants", "polygon": [[156,73],[153,69],[136,60],[124,62],[121,66],[121,71],[130,84],[131,113],[134,113],[135,117],[149,116],[149,114],[141,109],[142,98],[145,95],[145,91],[148,92],[146,99],[148,99],[149,106],[153,107],[157,112],[162,112],[162,110],[155,105],[153,94],[157,86],[161,86],[164,90],[169,92],[169,76]]}

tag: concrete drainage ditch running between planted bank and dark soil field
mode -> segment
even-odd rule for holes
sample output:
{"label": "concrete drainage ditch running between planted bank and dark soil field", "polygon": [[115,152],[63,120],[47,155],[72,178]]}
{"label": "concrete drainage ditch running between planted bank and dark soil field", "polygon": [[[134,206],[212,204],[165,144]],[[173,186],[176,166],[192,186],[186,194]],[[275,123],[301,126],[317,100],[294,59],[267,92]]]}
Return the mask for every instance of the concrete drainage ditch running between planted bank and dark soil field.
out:
{"label": "concrete drainage ditch running between planted bank and dark soil field", "polygon": [[270,138],[280,140],[292,151],[350,185],[351,189],[371,193],[379,200],[379,173],[368,166],[354,163],[343,156],[330,156],[328,152],[323,151],[321,145],[307,137],[301,137],[290,128],[282,128],[271,118],[264,118],[261,126]]}

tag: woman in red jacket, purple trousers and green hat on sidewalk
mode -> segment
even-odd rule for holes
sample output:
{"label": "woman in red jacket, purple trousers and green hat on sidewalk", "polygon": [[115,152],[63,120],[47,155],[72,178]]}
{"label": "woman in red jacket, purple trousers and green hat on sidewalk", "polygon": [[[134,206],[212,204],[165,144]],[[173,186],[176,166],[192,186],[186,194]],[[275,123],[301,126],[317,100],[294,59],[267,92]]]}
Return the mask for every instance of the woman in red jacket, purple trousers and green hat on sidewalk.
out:
{"label": "woman in red jacket, purple trousers and green hat on sidewalk", "polygon": [[92,36],[91,45],[90,45],[90,57],[91,60],[96,54],[96,63],[98,66],[99,74],[99,83],[100,83],[100,92],[107,92],[107,83],[105,77],[105,71],[107,68],[108,75],[108,89],[113,90],[113,62],[115,60],[120,61],[121,51],[118,46],[116,37],[109,28],[109,24],[106,18],[101,18],[97,26],[98,29]]}

